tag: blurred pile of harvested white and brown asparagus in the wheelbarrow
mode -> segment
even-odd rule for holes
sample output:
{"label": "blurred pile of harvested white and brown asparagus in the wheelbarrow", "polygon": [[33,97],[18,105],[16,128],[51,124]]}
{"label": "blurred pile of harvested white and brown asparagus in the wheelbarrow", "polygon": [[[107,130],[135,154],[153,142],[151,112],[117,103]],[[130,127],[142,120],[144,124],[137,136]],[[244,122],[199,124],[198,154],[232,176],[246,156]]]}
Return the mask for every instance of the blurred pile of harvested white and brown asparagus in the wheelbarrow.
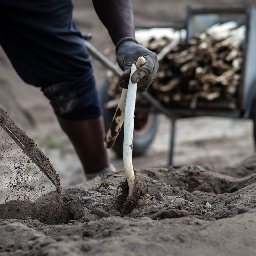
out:
{"label": "blurred pile of harvested white and brown asparagus in the wheelbarrow", "polygon": [[[245,29],[235,21],[215,24],[196,34],[188,44],[184,44],[186,30],[137,31],[139,43],[155,52],[159,61],[158,72],[148,92],[167,107],[195,109],[200,101],[235,101],[241,78]],[[119,78],[111,71],[106,78],[111,84],[109,95],[119,98]],[[147,102],[138,97],[137,105],[144,104]]]}

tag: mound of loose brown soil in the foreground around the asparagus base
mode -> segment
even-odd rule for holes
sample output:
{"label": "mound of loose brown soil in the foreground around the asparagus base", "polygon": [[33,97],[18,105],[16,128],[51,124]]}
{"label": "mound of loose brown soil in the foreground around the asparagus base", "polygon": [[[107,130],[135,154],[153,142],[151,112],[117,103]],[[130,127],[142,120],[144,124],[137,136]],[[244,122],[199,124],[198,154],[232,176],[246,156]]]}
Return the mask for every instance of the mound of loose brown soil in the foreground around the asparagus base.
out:
{"label": "mound of loose brown soil in the foreground around the asparagus base", "polygon": [[124,216],[124,171],[63,188],[52,225],[42,214],[18,220],[0,212],[0,255],[255,255],[256,173],[235,177],[255,159],[230,175],[202,166],[137,170],[147,196]]}

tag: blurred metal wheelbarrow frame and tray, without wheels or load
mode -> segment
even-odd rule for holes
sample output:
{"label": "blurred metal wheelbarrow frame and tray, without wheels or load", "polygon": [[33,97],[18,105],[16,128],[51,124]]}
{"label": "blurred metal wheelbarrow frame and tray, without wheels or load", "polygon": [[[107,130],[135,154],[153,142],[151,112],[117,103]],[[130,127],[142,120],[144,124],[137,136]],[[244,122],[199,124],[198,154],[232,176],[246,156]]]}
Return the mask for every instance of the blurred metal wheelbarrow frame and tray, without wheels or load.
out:
{"label": "blurred metal wheelbarrow frame and tray, without wheels or load", "polygon": [[[158,100],[156,100],[148,92],[144,92],[141,96],[148,100],[151,104],[151,108],[136,107],[137,112],[156,112],[164,113],[172,123],[171,136],[170,136],[170,150],[168,165],[172,165],[173,149],[174,149],[174,137],[175,137],[175,121],[177,119],[186,117],[198,117],[198,116],[219,116],[229,118],[249,118],[254,122],[256,127],[256,10],[252,6],[244,7],[192,7],[187,8],[187,20],[186,26],[187,37],[186,42],[192,38],[196,33],[203,32],[206,28],[218,23],[227,21],[237,21],[240,25],[246,26],[246,35],[243,50],[243,63],[241,70],[241,83],[238,87],[236,108],[204,108],[196,109],[181,109],[172,108],[168,109],[164,107]],[[139,26],[139,28],[152,28],[154,26]],[[165,24],[157,27],[172,27],[181,29],[180,24],[172,24],[172,26]],[[183,27],[183,28],[184,28]],[[121,77],[122,70],[109,60],[104,54],[98,51],[87,40],[90,39],[90,35],[83,35],[85,45],[93,57],[98,59],[102,64],[111,69],[117,76]],[[254,129],[255,131],[255,129]],[[256,141],[256,132],[254,133],[254,141]]]}

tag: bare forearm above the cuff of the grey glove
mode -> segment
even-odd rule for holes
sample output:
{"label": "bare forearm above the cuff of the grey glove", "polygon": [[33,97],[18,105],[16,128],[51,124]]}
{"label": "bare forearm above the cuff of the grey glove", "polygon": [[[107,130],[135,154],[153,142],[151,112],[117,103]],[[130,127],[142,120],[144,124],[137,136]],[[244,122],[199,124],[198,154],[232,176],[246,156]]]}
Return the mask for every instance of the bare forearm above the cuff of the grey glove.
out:
{"label": "bare forearm above the cuff of the grey glove", "polygon": [[131,0],[93,0],[93,5],[115,45],[124,37],[134,38]]}

